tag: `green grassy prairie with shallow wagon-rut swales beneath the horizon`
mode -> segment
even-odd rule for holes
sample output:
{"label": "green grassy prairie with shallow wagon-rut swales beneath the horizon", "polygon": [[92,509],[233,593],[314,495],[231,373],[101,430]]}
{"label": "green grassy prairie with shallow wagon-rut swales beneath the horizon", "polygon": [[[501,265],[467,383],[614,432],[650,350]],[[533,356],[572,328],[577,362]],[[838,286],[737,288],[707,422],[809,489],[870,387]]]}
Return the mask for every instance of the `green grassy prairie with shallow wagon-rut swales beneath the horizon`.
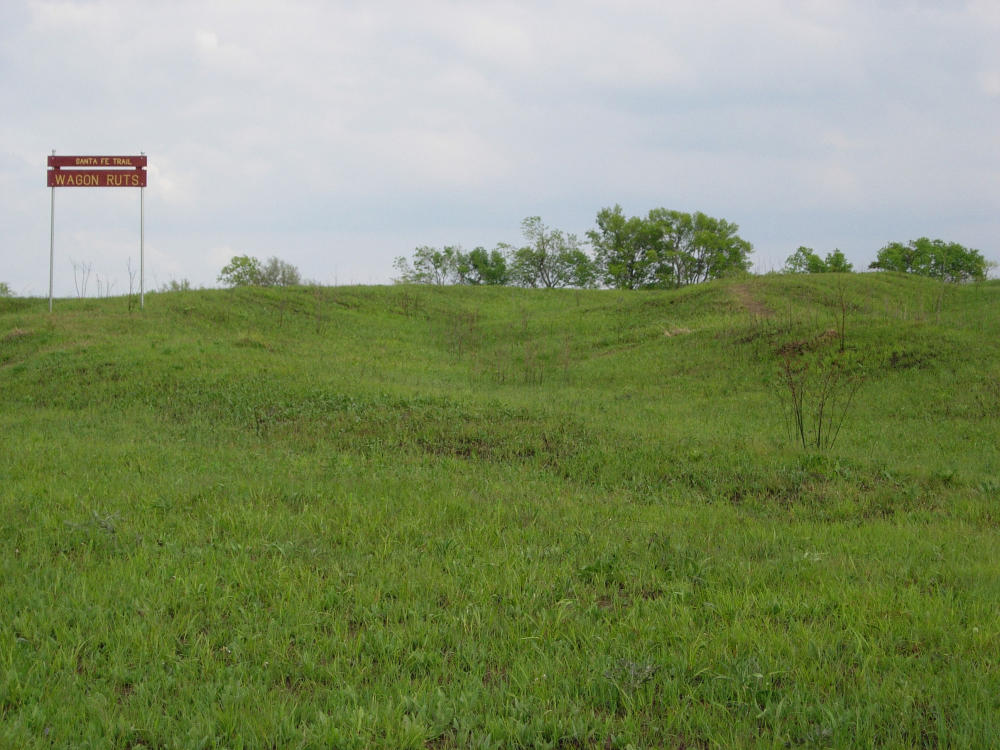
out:
{"label": "green grassy prairie with shallow wagon-rut swales beneath the horizon", "polygon": [[998,444],[997,282],[0,299],[0,747],[995,747]]}

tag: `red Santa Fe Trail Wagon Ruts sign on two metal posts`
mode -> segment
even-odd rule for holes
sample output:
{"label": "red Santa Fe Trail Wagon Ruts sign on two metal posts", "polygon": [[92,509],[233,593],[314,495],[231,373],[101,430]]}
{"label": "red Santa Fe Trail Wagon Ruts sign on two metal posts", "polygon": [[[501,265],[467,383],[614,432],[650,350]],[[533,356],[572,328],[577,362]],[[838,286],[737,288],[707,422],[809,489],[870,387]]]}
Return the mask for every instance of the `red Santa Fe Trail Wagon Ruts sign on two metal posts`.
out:
{"label": "red Santa Fe Trail Wagon Ruts sign on two metal posts", "polygon": [[139,188],[139,307],[146,306],[146,154],[139,156],[56,156],[49,157],[46,172],[52,188],[49,215],[49,312],[52,312],[52,279],[56,245],[57,187],[137,187]]}

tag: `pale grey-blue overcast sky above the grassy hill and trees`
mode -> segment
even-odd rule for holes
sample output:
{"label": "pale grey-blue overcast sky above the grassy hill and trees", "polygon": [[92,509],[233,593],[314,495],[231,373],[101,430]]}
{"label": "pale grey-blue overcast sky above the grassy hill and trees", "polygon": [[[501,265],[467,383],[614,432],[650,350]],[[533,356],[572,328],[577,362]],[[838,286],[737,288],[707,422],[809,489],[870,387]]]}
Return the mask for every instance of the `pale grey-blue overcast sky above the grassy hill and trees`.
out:
{"label": "pale grey-blue overcast sky above the grassy hill and trees", "polygon": [[[1000,259],[1000,2],[0,2],[0,281],[48,293],[46,156],[145,152],[146,287],[272,255],[381,284],[419,245],[605,206],[863,268]],[[55,191],[55,286],[114,293],[139,191]]]}

